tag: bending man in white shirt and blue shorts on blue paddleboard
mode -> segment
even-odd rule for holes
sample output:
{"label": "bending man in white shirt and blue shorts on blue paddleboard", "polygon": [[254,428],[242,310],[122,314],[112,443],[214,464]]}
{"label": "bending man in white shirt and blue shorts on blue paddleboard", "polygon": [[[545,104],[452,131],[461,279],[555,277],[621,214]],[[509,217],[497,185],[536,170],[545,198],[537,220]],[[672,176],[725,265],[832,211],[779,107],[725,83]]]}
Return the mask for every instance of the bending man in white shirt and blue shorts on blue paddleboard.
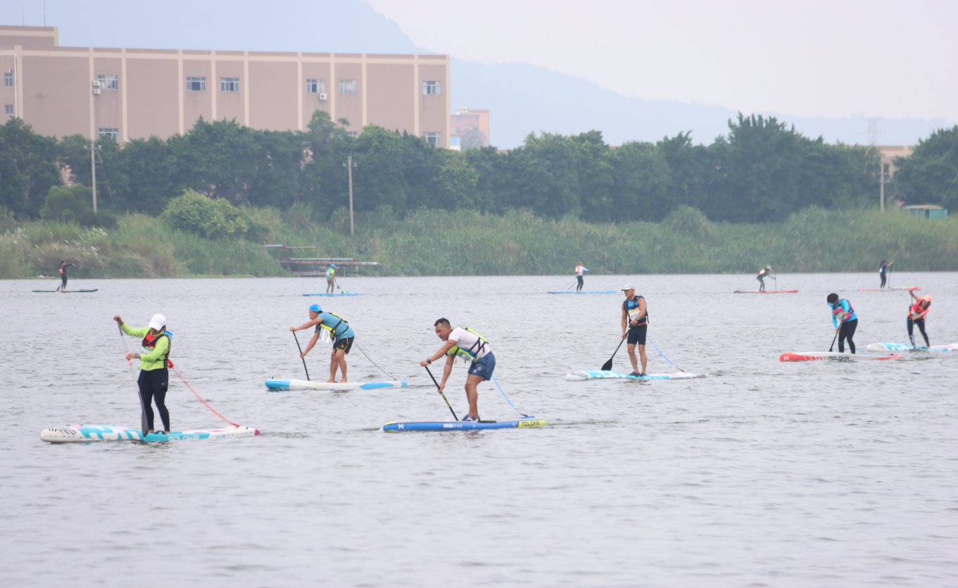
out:
{"label": "bending man in white shirt and blue shorts on blue paddleboard", "polygon": [[449,379],[449,373],[452,373],[452,364],[455,362],[456,356],[461,355],[463,359],[470,362],[468,375],[466,376],[466,398],[469,402],[469,414],[462,420],[478,421],[478,386],[481,382],[489,380],[495,370],[495,355],[492,354],[489,341],[471,328],[450,327],[448,319],[439,319],[433,323],[433,327],[435,327],[436,335],[445,341],[445,345],[439,348],[439,351],[423,359],[420,365],[426,367],[445,355],[443,380],[439,383],[439,392],[442,394],[445,389],[445,380]]}

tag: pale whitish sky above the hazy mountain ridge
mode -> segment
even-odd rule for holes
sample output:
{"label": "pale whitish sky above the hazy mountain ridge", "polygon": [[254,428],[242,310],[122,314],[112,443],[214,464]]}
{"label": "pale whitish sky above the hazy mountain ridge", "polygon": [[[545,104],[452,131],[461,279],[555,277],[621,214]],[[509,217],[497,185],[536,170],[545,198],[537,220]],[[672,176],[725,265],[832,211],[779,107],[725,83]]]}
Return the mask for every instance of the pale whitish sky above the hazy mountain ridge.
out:
{"label": "pale whitish sky above the hazy mountain ridge", "polygon": [[958,2],[369,0],[414,43],[625,96],[958,122]]}

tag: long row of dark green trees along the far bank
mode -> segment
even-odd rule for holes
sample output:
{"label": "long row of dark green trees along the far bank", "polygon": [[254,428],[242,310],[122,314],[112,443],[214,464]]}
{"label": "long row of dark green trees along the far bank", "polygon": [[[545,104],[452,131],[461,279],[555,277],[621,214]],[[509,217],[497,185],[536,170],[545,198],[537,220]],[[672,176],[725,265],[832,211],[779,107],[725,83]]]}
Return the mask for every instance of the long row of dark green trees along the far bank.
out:
{"label": "long row of dark green trees along the far bank", "polygon": [[[298,210],[328,218],[349,205],[343,164],[352,156],[355,210],[388,206],[400,217],[423,208],[525,209],[597,222],[658,221],[691,206],[712,220],[771,222],[811,206],[851,209],[877,201],[874,147],[810,139],[773,117],[740,114],[709,146],[695,145],[683,132],[610,147],[600,131],[590,131],[530,134],[507,152],[435,148],[375,125],[353,137],[347,124],[317,111],[302,132],[200,118],[188,133],[167,140],[120,145],[101,138],[98,199],[116,213],[155,216],[172,198],[194,191],[235,205],[286,210],[302,203]],[[934,161],[922,163],[929,157]],[[958,126],[935,133],[901,162],[899,197],[919,201],[934,192],[947,198],[953,164]],[[90,186],[88,139],[37,135],[19,119],[0,127],[0,206],[36,218],[64,179]],[[951,193],[958,199],[958,187]]]}

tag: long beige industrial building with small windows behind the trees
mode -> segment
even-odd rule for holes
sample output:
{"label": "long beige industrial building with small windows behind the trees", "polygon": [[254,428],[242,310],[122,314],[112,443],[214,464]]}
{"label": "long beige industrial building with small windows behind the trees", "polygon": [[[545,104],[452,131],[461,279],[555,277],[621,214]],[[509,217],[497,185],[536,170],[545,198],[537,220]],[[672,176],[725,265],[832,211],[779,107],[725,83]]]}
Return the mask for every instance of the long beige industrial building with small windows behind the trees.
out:
{"label": "long beige industrial building with small windows behind the trees", "polygon": [[7,117],[63,137],[117,141],[196,119],[305,130],[315,110],[449,147],[449,57],[60,47],[57,27],[0,26]]}

